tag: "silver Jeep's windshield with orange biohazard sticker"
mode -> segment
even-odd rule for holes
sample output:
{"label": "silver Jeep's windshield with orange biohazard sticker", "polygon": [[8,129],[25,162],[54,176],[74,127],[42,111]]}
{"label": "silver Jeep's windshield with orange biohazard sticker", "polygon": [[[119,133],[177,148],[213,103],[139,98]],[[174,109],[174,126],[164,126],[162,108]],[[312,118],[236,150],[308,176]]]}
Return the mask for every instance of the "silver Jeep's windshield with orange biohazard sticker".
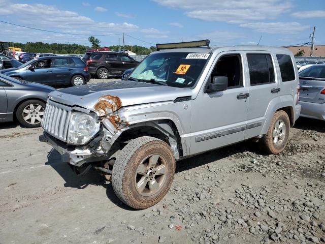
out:
{"label": "silver Jeep's windshield with orange biohazard sticker", "polygon": [[147,56],[129,76],[142,81],[159,81],[169,86],[192,87],[199,78],[209,53],[163,52]]}

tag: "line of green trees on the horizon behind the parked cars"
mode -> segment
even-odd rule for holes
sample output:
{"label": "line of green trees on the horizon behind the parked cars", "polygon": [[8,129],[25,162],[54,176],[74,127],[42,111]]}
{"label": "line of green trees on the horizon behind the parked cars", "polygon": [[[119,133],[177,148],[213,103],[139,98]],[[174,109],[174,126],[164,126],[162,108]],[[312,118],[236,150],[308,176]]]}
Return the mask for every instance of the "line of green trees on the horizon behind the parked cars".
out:
{"label": "line of green trees on the horizon behind the parked cars", "polygon": [[[48,53],[59,53],[59,54],[84,54],[87,49],[90,49],[90,46],[79,45],[79,44],[64,44],[64,43],[43,43],[43,42],[27,42],[27,43],[17,43],[10,42],[10,47],[22,48],[25,52],[48,52]],[[119,51],[120,48],[123,50],[123,46],[112,45],[109,46],[112,51]],[[150,48],[142,46],[130,46],[125,45],[125,50],[133,51],[137,55],[147,55],[152,51],[155,51],[156,48],[151,46]]]}

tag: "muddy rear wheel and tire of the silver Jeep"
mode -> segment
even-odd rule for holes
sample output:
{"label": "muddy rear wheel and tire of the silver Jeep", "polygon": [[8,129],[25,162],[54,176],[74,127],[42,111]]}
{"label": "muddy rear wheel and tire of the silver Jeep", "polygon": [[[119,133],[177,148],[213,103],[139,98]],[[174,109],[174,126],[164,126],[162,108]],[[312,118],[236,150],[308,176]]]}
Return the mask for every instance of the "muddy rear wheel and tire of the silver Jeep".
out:
{"label": "muddy rear wheel and tire of the silver Jeep", "polygon": [[259,140],[261,149],[269,154],[280,154],[288,142],[289,132],[288,114],[283,110],[275,112],[268,132]]}

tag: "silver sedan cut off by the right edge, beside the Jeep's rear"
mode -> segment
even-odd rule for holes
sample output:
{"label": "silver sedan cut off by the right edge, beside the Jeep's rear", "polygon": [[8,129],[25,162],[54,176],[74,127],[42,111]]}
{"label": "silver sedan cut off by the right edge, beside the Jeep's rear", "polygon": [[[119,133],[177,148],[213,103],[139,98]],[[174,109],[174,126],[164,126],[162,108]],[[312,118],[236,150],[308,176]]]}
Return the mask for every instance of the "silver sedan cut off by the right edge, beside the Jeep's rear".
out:
{"label": "silver sedan cut off by the right edge, beside the Jeep's rear", "polygon": [[313,65],[299,72],[300,116],[325,120],[325,65]]}

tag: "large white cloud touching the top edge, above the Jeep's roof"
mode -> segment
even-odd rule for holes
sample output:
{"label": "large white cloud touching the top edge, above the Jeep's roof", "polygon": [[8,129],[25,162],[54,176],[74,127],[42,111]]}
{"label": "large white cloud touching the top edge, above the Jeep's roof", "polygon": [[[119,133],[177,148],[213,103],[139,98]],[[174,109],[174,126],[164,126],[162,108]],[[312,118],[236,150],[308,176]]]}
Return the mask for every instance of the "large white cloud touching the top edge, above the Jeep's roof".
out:
{"label": "large white cloud touching the top edge, above the Jeep's roof", "polygon": [[286,13],[289,0],[154,0],[160,5],[184,9],[191,18],[205,21],[243,23],[245,21],[275,19]]}

